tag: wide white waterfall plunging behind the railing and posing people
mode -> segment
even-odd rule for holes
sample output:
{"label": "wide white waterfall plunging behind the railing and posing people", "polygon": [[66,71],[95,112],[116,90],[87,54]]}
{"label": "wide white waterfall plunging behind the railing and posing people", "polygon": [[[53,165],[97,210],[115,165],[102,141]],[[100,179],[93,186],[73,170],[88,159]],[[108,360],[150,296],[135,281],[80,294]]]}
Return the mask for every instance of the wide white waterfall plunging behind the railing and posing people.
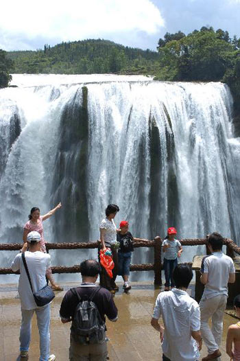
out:
{"label": "wide white waterfall plunging behind the railing and posing people", "polygon": [[[59,201],[43,223],[47,242],[99,239],[112,202],[116,224],[128,220],[135,237],[176,226],[178,238],[218,231],[239,243],[240,141],[228,86],[131,75],[13,75],[12,84],[0,90],[1,243],[21,242],[32,207],[44,214]],[[185,247],[180,261],[202,252]],[[1,251],[1,267],[16,253]],[[97,250],[50,254],[52,266],[97,258]],[[152,262],[150,248],[132,254],[132,263]]]}

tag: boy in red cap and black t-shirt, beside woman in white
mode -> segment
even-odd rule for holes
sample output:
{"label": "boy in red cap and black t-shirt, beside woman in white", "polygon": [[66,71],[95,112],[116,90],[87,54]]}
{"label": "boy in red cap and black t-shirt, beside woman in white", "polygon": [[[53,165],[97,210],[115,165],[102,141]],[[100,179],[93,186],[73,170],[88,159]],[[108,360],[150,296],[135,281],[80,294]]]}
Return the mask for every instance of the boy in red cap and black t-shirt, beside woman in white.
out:
{"label": "boy in red cap and black t-shirt, beside woman in white", "polygon": [[120,231],[117,233],[117,241],[120,243],[119,246],[119,264],[118,264],[118,275],[123,277],[123,290],[128,291],[132,287],[128,281],[130,275],[130,264],[132,259],[132,252],[134,248],[132,246],[132,241],[140,241],[140,238],[132,237],[132,233],[128,231],[128,222],[122,220],[120,222]]}

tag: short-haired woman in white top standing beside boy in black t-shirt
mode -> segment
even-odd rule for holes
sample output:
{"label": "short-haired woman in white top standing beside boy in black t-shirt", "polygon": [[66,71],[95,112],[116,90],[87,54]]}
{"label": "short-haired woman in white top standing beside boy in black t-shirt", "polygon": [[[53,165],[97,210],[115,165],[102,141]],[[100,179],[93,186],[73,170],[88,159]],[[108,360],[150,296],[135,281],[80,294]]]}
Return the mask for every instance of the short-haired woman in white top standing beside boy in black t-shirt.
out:
{"label": "short-haired woman in white top standing beside boy in black t-shirt", "polygon": [[110,278],[105,268],[101,266],[101,275],[100,275],[100,285],[104,288],[110,290],[112,294],[115,294],[115,291],[118,290],[118,287],[115,283],[117,277],[117,226],[114,222],[114,218],[119,211],[119,207],[117,205],[108,205],[106,207],[105,213],[106,218],[101,221],[100,224],[100,240],[101,240],[101,249],[104,251],[106,248],[110,248],[112,251],[112,259],[115,264],[115,268],[112,270],[113,277]]}

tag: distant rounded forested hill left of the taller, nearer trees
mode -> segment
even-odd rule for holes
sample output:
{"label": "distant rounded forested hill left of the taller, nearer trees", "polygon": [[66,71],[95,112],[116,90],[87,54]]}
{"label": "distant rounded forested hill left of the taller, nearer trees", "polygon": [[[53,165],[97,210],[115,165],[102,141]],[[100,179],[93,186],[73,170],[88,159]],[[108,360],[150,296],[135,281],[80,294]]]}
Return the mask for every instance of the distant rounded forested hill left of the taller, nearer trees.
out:
{"label": "distant rounded forested hill left of the taller, nearer trees", "polygon": [[12,73],[155,73],[158,52],[124,47],[108,40],[61,43],[36,51],[10,51]]}

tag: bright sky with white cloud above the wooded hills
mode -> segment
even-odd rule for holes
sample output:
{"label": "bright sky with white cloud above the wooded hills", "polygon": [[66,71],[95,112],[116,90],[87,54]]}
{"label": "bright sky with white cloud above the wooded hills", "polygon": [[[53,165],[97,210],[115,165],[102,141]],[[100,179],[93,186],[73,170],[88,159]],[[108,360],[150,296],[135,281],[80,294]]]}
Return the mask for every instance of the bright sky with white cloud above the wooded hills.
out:
{"label": "bright sky with white cloud above the wooded hills", "polygon": [[240,37],[239,15],[240,0],[12,0],[1,5],[0,49],[104,38],[155,50],[166,32],[204,25]]}

